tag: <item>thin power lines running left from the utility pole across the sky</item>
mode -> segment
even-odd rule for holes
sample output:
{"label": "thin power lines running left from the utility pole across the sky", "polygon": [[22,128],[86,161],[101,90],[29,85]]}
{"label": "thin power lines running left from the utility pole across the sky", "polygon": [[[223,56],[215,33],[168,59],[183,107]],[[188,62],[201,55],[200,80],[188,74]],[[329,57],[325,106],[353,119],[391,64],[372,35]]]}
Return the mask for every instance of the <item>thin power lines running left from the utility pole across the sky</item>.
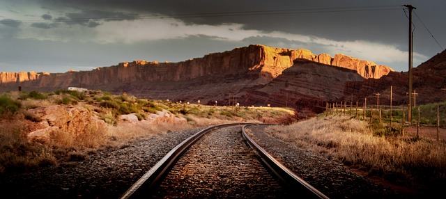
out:
{"label": "thin power lines running left from the utility pole across the sky", "polygon": [[340,7],[340,8],[302,8],[289,10],[254,10],[254,11],[234,11],[220,13],[185,13],[175,15],[132,15],[127,17],[89,17],[89,18],[59,18],[59,19],[34,19],[34,20],[15,20],[3,19],[0,24],[19,24],[36,22],[88,22],[89,20],[131,20],[131,19],[162,19],[162,18],[194,18],[194,17],[235,17],[250,15],[293,15],[310,13],[343,13],[360,12],[376,10],[398,10],[400,6],[362,6],[362,7]]}

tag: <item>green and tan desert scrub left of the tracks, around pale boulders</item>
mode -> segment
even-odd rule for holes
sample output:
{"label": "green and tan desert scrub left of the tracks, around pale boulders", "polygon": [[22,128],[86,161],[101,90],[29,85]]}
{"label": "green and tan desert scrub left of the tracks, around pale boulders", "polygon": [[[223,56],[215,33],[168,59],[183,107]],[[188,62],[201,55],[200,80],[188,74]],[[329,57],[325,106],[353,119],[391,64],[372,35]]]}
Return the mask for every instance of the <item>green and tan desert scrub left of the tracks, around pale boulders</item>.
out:
{"label": "green and tan desert scrub left of the tracks, around pale boulders", "polygon": [[[30,132],[43,128],[42,118],[33,109],[59,105],[82,107],[105,126],[89,125],[79,134],[57,130],[49,143],[30,141]],[[150,114],[167,110],[187,122],[156,125],[142,122]],[[120,116],[134,114],[141,122],[125,122]],[[292,118],[293,111],[281,108],[205,106],[113,95],[100,90],[78,92],[56,90],[49,93],[9,92],[0,94],[0,174],[23,172],[40,166],[79,161],[108,148],[121,148],[137,139],[156,134],[227,122],[259,122],[259,118]]]}

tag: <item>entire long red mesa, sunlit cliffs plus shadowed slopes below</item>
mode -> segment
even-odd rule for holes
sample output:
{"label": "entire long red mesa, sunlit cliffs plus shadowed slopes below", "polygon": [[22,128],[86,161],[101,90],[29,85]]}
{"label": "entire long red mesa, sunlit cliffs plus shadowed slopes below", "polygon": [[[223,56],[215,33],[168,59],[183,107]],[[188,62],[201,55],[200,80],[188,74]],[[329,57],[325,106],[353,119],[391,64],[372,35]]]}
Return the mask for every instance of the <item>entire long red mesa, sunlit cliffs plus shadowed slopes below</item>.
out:
{"label": "entire long red mesa, sunlit cliffs plus shadowed slopes below", "polygon": [[[22,90],[43,91],[75,86],[158,100],[294,106],[305,99],[339,100],[348,90],[347,81],[377,79],[392,71],[390,67],[343,54],[332,57],[307,49],[249,45],[179,63],[133,61],[55,74],[0,72],[0,91],[17,90],[18,86]],[[288,103],[281,93],[293,100]]]}

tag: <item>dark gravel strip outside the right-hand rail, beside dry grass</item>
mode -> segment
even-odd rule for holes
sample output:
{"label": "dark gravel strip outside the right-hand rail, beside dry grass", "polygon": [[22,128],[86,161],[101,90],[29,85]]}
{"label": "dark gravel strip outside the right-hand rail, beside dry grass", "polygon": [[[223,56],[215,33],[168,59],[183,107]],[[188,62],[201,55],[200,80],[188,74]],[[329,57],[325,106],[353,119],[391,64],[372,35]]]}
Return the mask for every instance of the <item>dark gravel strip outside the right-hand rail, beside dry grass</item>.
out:
{"label": "dark gravel strip outside the right-hand rail, beside dry grass", "polygon": [[329,198],[403,198],[395,191],[356,175],[341,164],[296,148],[252,126],[253,139],[275,159]]}

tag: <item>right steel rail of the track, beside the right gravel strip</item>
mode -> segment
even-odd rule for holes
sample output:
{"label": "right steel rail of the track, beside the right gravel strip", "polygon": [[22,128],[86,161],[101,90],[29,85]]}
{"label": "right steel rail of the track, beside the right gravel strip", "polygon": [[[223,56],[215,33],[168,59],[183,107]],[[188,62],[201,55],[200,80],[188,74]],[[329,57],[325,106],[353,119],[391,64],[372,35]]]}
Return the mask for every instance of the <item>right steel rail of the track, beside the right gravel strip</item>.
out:
{"label": "right steel rail of the track, beside the right gravel strip", "polygon": [[284,184],[287,184],[291,191],[298,194],[298,196],[304,196],[304,198],[328,198],[321,191],[318,191],[308,182],[305,182],[302,178],[295,175],[291,170],[286,168],[277,159],[272,157],[266,150],[261,148],[254,140],[247,135],[245,129],[246,127],[253,126],[255,124],[249,124],[242,127],[242,134],[248,145],[259,152],[259,156],[263,164],[265,164],[272,174],[277,177],[277,179],[282,180]]}

